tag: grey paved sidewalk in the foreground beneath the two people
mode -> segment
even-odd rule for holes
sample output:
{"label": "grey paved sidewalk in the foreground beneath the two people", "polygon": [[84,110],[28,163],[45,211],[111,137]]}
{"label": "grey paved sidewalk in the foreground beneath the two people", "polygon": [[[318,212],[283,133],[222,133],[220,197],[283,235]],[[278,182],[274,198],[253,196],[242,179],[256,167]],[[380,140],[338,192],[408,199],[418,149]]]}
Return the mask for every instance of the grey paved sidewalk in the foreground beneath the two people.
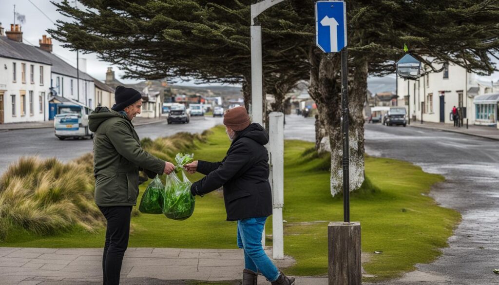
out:
{"label": "grey paved sidewalk in the foreground beneath the two people", "polygon": [[[271,256],[271,249],[266,252]],[[274,262],[279,268],[294,264],[290,257]],[[242,250],[130,248],[121,274],[125,284],[182,284],[161,281],[241,280],[243,268]],[[101,284],[102,249],[0,248],[0,276],[1,285]],[[327,278],[300,280],[327,284]]]}

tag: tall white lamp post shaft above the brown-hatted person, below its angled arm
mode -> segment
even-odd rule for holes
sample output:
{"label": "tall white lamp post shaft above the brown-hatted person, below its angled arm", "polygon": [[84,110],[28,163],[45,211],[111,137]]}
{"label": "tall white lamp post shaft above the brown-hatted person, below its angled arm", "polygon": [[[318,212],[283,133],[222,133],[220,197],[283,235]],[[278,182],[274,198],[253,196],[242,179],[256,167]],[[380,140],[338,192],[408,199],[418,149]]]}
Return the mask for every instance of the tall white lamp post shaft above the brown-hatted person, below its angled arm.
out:
{"label": "tall white lamp post shaft above the brown-hatted person, below its angled arm", "polygon": [[261,26],[251,26],[251,116],[263,124],[263,82],[261,69]]}

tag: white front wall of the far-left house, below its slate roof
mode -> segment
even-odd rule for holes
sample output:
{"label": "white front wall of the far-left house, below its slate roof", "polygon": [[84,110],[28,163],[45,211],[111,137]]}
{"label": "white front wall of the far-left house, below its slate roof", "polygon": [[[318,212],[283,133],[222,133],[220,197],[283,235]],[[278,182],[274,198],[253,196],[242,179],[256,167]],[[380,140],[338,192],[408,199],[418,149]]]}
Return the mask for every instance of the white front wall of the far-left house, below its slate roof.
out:
{"label": "white front wall of the far-left house, below its slate roof", "polygon": [[[16,63],[15,82],[12,64],[14,62]],[[22,63],[26,66],[25,82],[22,82],[21,80]],[[33,82],[31,82],[30,78],[31,65],[34,66]],[[43,82],[40,82],[40,66],[43,66]],[[50,65],[0,57],[0,67],[0,90],[3,90],[4,92],[4,123],[39,122],[48,120],[47,99],[50,92]],[[30,112],[29,91],[32,91],[33,96],[32,113]],[[25,94],[24,114],[21,114],[21,93]],[[12,97],[12,95],[14,95],[14,97]],[[14,99],[14,101],[12,99]],[[12,102],[14,102],[14,105],[12,105]],[[14,111],[14,113],[12,111]]]}

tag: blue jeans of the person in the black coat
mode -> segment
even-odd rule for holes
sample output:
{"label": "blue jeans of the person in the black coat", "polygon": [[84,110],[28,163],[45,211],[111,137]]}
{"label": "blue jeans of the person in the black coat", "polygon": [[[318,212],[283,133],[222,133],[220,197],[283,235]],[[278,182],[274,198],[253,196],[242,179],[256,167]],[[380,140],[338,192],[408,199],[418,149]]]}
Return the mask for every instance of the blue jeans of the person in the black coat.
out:
{"label": "blue jeans of the person in the black coat", "polygon": [[267,257],[261,246],[261,234],[266,217],[249,218],[238,221],[238,247],[245,252],[245,268],[260,272],[268,281],[279,278],[279,271]]}

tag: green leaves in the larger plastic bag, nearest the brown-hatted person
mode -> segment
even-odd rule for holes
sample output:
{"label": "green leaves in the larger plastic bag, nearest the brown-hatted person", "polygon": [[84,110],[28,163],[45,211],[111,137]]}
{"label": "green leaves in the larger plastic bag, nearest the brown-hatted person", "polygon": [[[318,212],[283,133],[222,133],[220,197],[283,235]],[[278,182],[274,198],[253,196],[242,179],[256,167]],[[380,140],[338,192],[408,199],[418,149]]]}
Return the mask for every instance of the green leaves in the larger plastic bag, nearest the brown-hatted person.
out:
{"label": "green leaves in the larger plastic bag, nearest the brown-hatted person", "polygon": [[[191,155],[192,158],[192,155]],[[163,214],[173,220],[182,221],[194,213],[196,199],[191,194],[192,183],[182,171],[183,181],[172,172],[166,177]]]}

